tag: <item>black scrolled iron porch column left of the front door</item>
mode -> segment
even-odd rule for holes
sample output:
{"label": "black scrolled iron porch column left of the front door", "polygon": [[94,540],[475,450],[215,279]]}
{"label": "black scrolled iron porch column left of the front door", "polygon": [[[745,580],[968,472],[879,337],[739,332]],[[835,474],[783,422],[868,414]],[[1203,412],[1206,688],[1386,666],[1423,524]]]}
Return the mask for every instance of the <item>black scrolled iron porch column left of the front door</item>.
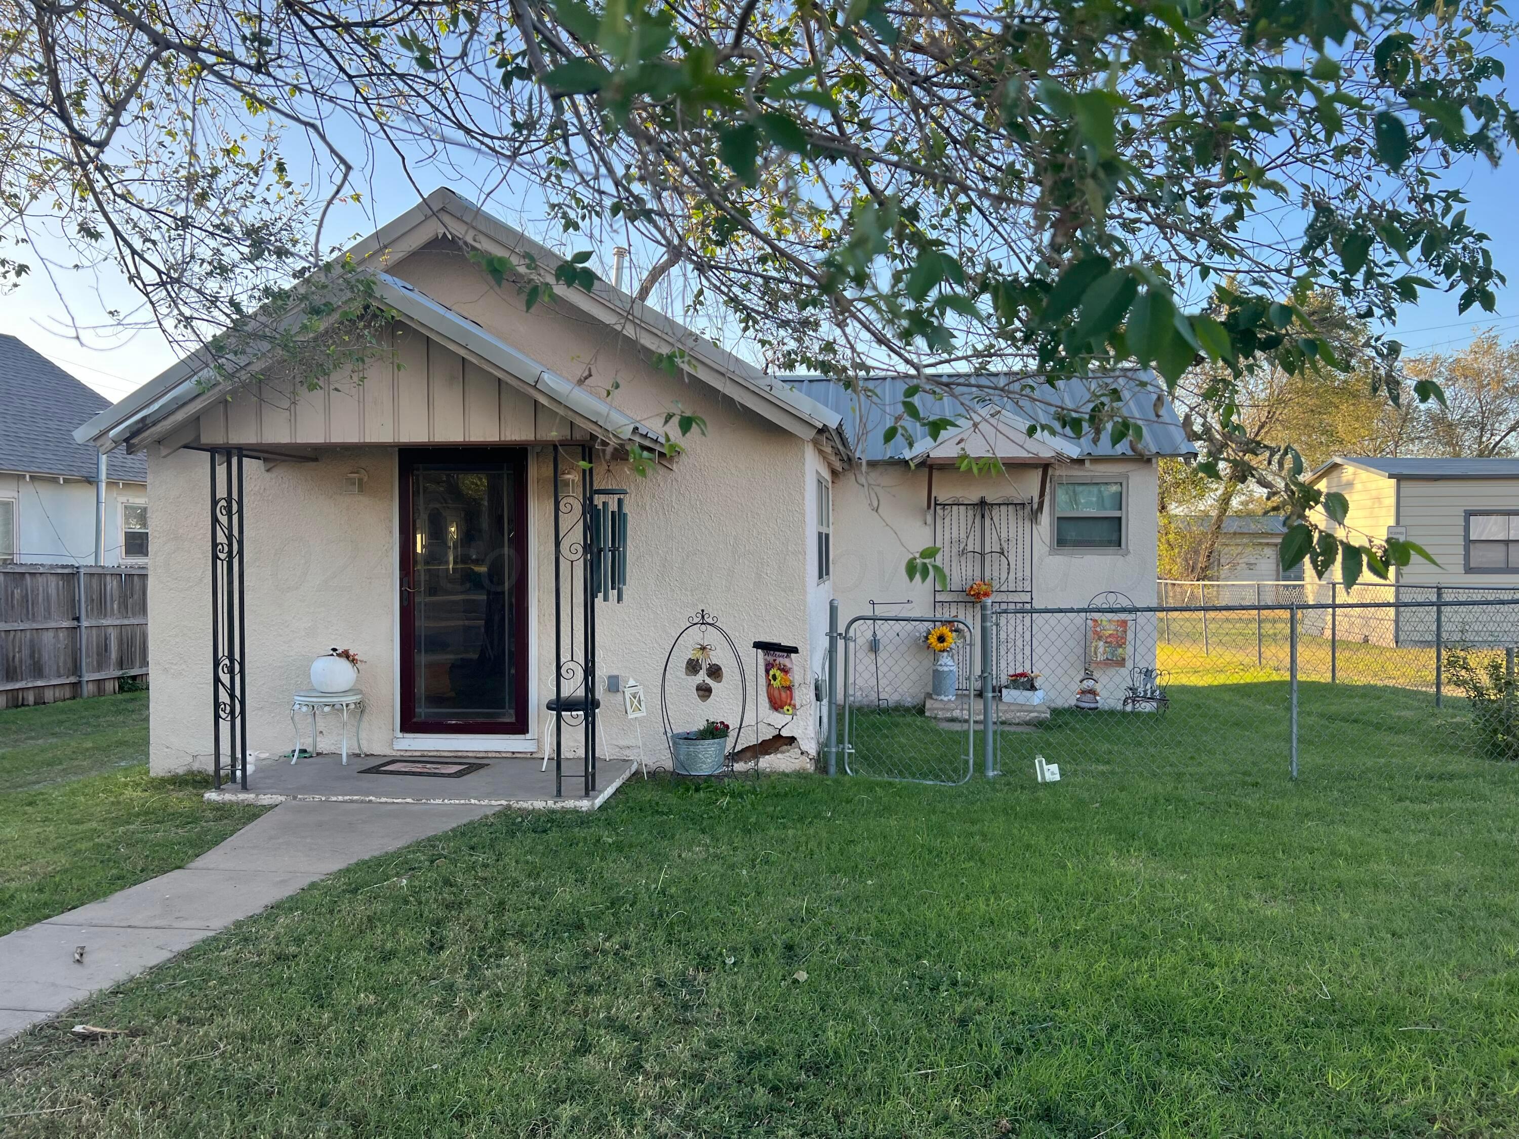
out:
{"label": "black scrolled iron porch column left of the front door", "polygon": [[[211,773],[248,790],[248,620],[243,576],[243,451],[211,451]],[[225,483],[217,463],[226,465]]]}

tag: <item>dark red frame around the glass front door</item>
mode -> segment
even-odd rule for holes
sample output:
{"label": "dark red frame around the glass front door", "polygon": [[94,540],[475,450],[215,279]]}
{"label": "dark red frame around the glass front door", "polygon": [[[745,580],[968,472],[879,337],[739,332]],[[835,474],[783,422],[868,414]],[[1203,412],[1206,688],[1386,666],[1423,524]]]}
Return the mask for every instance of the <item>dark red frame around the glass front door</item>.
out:
{"label": "dark red frame around the glass front door", "polygon": [[[401,730],[418,735],[526,735],[532,723],[527,706],[529,595],[527,595],[527,448],[524,446],[406,446],[399,456],[399,563],[401,563],[401,685],[396,693],[401,706]],[[478,471],[504,466],[515,475],[515,525],[506,533],[509,620],[512,626],[512,659],[516,665],[513,683],[515,720],[418,720],[416,712],[416,607],[412,591],[416,583],[416,518],[413,516],[412,475],[416,468]]]}

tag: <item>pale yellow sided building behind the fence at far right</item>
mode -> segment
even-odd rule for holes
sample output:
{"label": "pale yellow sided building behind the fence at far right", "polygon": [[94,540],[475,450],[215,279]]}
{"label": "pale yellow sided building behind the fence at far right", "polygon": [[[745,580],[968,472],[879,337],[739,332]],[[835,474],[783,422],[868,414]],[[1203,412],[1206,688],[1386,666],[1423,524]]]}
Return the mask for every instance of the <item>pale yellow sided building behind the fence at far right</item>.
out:
{"label": "pale yellow sided building behind the fence at far right", "polygon": [[[1337,491],[1349,501],[1343,527],[1320,519],[1329,530],[1343,528],[1363,542],[1405,538],[1429,553],[1435,563],[1414,556],[1393,571],[1399,600],[1432,600],[1435,586],[1445,586],[1446,595],[1467,598],[1511,597],[1519,591],[1519,459],[1331,459],[1308,483],[1325,494]],[[1326,580],[1341,580],[1338,565]],[[1375,579],[1361,580],[1372,589],[1356,600],[1382,600],[1393,592]],[[1492,620],[1489,611],[1469,612],[1466,623],[1455,609],[1446,617],[1451,639],[1464,635],[1490,639],[1475,627]],[[1429,611],[1401,612],[1396,639],[1431,641],[1432,624]],[[1372,639],[1387,638],[1373,632]]]}

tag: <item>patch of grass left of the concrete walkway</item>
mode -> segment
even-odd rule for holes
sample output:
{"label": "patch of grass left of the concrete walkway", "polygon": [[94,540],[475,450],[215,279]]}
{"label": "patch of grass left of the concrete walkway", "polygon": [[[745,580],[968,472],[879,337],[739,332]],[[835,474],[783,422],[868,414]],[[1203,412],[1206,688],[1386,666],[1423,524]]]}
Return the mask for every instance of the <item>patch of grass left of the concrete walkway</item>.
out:
{"label": "patch of grass left of the concrete walkway", "polygon": [[147,693],[0,711],[0,934],[175,870],[261,814],[147,775]]}

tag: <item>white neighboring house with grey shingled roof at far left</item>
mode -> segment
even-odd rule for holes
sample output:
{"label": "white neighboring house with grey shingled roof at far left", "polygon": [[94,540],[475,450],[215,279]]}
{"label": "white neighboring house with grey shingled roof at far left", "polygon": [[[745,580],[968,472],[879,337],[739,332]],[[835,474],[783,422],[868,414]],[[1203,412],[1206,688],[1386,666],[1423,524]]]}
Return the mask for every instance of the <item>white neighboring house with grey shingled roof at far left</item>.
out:
{"label": "white neighboring house with grey shingled roof at far left", "polygon": [[[111,401],[0,336],[0,562],[90,565],[96,557],[96,460],[79,424]],[[102,565],[146,563],[147,459],[106,460]]]}

